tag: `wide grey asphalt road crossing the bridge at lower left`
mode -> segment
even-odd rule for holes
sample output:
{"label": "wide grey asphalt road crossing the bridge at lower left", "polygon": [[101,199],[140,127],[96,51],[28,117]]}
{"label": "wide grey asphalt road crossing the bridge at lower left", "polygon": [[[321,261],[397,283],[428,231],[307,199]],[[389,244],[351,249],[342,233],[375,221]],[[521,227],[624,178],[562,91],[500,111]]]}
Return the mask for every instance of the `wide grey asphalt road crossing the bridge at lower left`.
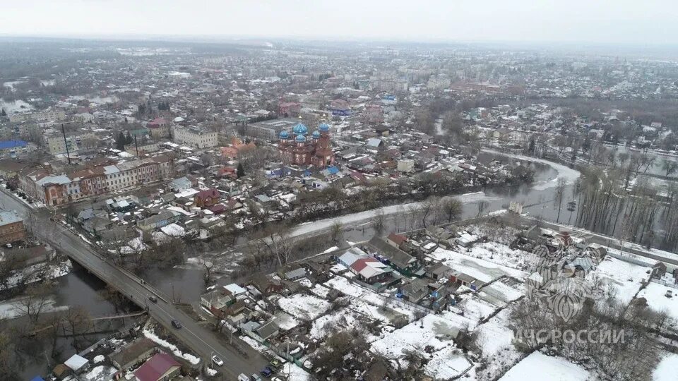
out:
{"label": "wide grey asphalt road crossing the bridge at lower left", "polygon": [[[248,358],[244,358],[230,346],[225,346],[215,337],[215,332],[201,327],[189,315],[186,315],[147,283],[111,262],[103,259],[98,253],[85,243],[79,236],[49,220],[49,211],[33,210],[24,202],[15,198],[4,187],[0,186],[0,204],[6,209],[16,210],[27,224],[32,224],[33,234],[55,248],[63,251],[69,257],[95,274],[102,281],[113,286],[122,294],[142,308],[148,305],[148,313],[157,322],[160,322],[179,341],[189,347],[194,354],[201,356],[203,361],[210,363],[213,354],[224,360],[224,365],[218,368],[225,375],[236,379],[240,373],[251,375],[258,373],[268,361],[254,350],[247,351]],[[28,215],[32,214],[31,218]],[[148,296],[159,296],[157,303],[148,301]],[[182,329],[174,329],[172,319],[182,322]]]}

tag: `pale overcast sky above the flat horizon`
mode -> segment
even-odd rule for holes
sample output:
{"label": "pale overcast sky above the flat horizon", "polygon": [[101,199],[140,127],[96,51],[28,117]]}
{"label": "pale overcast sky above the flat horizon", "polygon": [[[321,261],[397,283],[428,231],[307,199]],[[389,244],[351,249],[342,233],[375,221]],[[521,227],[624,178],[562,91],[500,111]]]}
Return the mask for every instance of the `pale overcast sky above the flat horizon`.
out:
{"label": "pale overcast sky above the flat horizon", "polygon": [[0,34],[678,44],[678,0],[4,0]]}

